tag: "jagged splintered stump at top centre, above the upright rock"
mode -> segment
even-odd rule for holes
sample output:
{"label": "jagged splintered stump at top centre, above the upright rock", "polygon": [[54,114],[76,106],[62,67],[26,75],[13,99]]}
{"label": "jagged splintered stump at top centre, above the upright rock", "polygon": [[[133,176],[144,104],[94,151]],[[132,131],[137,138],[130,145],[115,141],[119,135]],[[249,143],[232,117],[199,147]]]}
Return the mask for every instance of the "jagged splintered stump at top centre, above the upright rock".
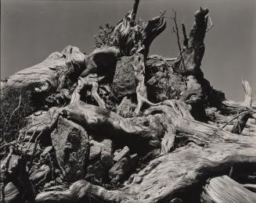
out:
{"label": "jagged splintered stump at top centre, above the upright rock", "polygon": [[135,0],[132,11],[117,23],[112,34],[112,45],[117,46],[121,55],[142,53],[146,58],[152,41],[161,34],[165,27],[164,13],[154,17],[148,23],[135,21],[139,0]]}

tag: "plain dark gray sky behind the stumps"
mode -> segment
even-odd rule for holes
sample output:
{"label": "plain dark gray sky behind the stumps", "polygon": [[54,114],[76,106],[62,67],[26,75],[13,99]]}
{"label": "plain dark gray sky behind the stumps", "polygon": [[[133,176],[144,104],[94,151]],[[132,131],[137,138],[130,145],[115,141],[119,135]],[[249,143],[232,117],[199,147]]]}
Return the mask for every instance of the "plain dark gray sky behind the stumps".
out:
{"label": "plain dark gray sky behind the stumps", "polygon": [[[2,0],[1,78],[45,59],[51,52],[75,45],[92,52],[99,25],[117,23],[132,8],[133,0]],[[202,62],[205,77],[226,97],[243,100],[240,77],[249,80],[256,94],[255,0],[141,0],[138,18],[148,20],[160,11],[178,12],[189,31],[193,13],[210,9],[214,27],[207,33]],[[150,54],[175,57],[177,42],[168,29],[151,46]],[[255,95],[254,95],[255,98]]]}

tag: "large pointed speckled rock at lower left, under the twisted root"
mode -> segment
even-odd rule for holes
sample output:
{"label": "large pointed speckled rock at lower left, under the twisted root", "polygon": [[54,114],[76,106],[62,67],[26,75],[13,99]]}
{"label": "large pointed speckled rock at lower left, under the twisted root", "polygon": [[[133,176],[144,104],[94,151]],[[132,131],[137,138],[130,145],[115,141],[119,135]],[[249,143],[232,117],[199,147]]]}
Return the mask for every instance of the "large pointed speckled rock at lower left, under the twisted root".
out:
{"label": "large pointed speckled rock at lower left, under the twisted root", "polygon": [[82,126],[59,116],[56,130],[51,134],[56,158],[67,179],[76,181],[85,176],[88,161],[88,134]]}

